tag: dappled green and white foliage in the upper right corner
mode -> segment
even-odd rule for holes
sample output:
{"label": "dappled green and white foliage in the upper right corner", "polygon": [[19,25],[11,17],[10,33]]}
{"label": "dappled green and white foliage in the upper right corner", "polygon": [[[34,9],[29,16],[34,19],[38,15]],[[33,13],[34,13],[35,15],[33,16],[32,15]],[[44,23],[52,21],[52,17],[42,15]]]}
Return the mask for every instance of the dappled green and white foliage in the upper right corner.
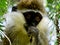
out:
{"label": "dappled green and white foliage in the upper right corner", "polygon": [[48,4],[47,7],[49,7],[49,16],[51,19],[54,18],[55,15],[57,15],[58,18],[60,18],[60,0],[47,0]]}

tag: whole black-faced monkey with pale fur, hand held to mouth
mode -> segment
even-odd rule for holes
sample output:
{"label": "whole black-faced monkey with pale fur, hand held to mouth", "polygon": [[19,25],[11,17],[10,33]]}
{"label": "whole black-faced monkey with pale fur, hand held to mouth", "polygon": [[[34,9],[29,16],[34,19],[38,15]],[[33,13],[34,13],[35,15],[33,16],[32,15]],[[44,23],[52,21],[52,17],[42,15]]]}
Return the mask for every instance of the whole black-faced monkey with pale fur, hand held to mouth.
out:
{"label": "whole black-faced monkey with pale fur, hand held to mouth", "polygon": [[20,0],[12,11],[4,15],[3,45],[49,45],[43,0]]}

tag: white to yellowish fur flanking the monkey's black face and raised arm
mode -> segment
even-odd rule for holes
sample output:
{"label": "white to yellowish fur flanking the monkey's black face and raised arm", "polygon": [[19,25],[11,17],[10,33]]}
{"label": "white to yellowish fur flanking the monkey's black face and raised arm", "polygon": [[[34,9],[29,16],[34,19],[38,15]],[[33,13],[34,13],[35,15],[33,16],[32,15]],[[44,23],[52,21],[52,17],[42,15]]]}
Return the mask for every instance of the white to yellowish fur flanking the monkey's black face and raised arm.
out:
{"label": "white to yellowish fur flanking the monkey's black face and raised arm", "polygon": [[[20,12],[11,12],[7,13],[3,16],[5,18],[5,30],[8,32],[11,32],[10,36],[12,37],[14,34],[15,36],[13,38],[14,42],[12,45],[33,45],[30,44],[28,37],[28,34],[24,28],[25,19],[22,13]],[[49,25],[50,19],[47,16],[43,16],[43,19],[41,22],[37,25],[37,28],[39,29],[39,38],[42,43],[42,45],[48,45],[48,25]],[[19,40],[18,40],[19,39]],[[45,41],[44,41],[45,40]],[[18,43],[20,41],[20,43]]]}

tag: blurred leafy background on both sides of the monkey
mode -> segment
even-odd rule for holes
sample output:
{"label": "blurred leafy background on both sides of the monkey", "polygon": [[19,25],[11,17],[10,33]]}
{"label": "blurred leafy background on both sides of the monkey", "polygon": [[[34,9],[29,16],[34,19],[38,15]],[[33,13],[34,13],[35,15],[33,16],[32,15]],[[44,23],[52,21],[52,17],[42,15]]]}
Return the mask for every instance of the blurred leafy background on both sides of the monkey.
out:
{"label": "blurred leafy background on both sides of the monkey", "polygon": [[[1,32],[4,29],[2,24],[4,19],[2,16],[7,12],[11,12],[12,6],[16,5],[18,1],[19,0],[0,0],[0,42],[2,42],[1,38],[4,37]],[[44,5],[48,13],[48,17],[51,20],[48,26],[48,30],[50,31],[50,44],[60,45],[60,0],[47,0],[44,2]]]}

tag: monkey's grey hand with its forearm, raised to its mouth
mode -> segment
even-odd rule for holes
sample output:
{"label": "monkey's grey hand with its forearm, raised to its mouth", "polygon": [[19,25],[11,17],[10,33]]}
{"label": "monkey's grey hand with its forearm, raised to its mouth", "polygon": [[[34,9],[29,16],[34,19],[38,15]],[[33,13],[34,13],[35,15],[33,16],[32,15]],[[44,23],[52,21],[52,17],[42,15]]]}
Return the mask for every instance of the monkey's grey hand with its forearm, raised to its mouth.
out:
{"label": "monkey's grey hand with its forearm, raised to its mouth", "polygon": [[40,39],[39,39],[39,30],[34,27],[34,26],[30,26],[28,28],[28,35],[31,36],[32,38],[35,38],[35,45],[40,45]]}

